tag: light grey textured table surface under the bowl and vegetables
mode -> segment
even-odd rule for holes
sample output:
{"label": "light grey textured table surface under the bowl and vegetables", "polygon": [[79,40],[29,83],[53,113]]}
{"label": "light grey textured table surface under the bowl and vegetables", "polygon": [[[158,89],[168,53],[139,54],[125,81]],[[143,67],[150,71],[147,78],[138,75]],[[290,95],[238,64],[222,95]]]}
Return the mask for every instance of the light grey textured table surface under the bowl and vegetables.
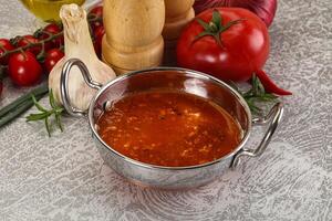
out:
{"label": "light grey textured table surface under the bowl and vegetables", "polygon": [[[0,38],[32,29],[18,1],[0,15]],[[21,117],[0,130],[0,220],[332,220],[331,0],[279,1],[270,34],[266,71],[294,95],[261,157],[198,189],[141,189],[103,165],[86,119],[48,138]],[[6,84],[0,106],[24,93]]]}

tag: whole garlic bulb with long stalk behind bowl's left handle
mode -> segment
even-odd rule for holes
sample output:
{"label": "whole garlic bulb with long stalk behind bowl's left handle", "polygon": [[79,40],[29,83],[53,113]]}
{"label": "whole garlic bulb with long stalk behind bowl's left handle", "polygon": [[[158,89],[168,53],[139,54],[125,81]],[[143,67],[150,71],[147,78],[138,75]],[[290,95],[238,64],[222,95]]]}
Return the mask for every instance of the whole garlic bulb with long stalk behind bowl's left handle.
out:
{"label": "whole garlic bulb with long stalk behind bowl's left handle", "polygon": [[[110,82],[116,75],[95,54],[84,9],[77,4],[64,4],[60,10],[60,18],[63,23],[65,55],[51,71],[49,88],[52,90],[55,101],[63,104],[60,95],[60,77],[62,67],[68,60],[81,60],[86,65],[92,80],[101,84]],[[74,66],[69,74],[69,96],[72,105],[86,110],[95,93],[95,90],[85,84],[80,70]]]}

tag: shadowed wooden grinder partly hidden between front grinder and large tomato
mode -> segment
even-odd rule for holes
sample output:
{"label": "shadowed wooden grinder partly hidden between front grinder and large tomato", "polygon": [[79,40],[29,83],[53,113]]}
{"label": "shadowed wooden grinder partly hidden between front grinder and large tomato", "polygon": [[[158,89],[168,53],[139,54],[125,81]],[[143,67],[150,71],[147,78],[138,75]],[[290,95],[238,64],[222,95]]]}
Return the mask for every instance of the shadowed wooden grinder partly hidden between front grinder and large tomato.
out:
{"label": "shadowed wooden grinder partly hidden between front grinder and large tomato", "polygon": [[166,21],[163,30],[165,40],[164,64],[176,63],[176,43],[181,30],[195,18],[193,9],[195,0],[165,0]]}

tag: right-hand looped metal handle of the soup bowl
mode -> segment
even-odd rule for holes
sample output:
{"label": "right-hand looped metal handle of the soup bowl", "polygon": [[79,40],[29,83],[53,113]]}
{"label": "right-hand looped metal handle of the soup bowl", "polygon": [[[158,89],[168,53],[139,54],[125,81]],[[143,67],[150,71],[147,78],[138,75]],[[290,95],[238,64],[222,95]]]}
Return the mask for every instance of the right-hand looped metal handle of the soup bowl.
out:
{"label": "right-hand looped metal handle of the soup bowl", "polygon": [[268,131],[266,133],[261,143],[259,144],[259,146],[256,149],[242,148],[235,155],[232,162],[230,165],[230,167],[232,169],[239,165],[241,157],[243,157],[243,156],[258,157],[263,154],[263,151],[267,149],[267,147],[268,147],[280,120],[281,120],[282,114],[283,114],[283,105],[282,105],[282,103],[277,103],[271,108],[271,110],[269,112],[269,114],[267,116],[257,117],[257,118],[252,119],[253,125],[261,126],[261,125],[266,125],[266,124],[270,123]]}

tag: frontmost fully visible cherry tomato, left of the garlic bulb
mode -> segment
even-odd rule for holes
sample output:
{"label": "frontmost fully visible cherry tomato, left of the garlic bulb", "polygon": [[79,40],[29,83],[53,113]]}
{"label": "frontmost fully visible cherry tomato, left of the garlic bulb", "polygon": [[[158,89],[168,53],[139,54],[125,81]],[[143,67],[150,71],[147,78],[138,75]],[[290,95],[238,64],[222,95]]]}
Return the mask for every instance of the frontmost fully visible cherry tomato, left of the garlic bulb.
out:
{"label": "frontmost fully visible cherry tomato, left of the garlic bulb", "polygon": [[42,76],[42,67],[31,52],[12,54],[8,65],[11,81],[19,86],[31,86]]}

